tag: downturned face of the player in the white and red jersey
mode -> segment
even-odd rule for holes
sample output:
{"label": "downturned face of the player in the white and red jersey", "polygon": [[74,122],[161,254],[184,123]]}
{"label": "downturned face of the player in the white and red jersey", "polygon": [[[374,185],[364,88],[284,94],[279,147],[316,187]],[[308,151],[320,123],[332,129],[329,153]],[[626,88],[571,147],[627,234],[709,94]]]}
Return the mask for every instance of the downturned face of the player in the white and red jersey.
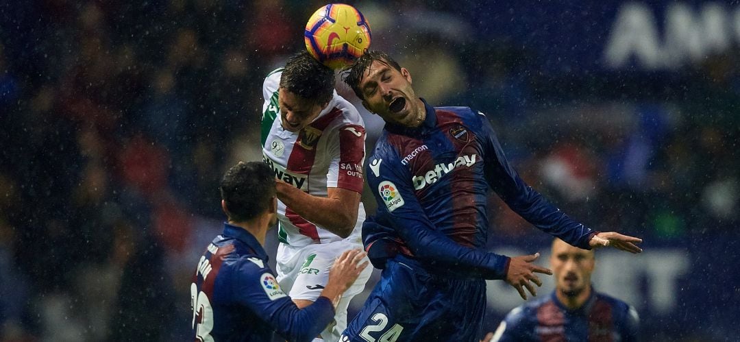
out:
{"label": "downturned face of the player in the white and red jersey", "polygon": [[280,124],[289,132],[297,132],[314,121],[325,105],[300,97],[283,87],[277,90],[277,105],[280,107]]}

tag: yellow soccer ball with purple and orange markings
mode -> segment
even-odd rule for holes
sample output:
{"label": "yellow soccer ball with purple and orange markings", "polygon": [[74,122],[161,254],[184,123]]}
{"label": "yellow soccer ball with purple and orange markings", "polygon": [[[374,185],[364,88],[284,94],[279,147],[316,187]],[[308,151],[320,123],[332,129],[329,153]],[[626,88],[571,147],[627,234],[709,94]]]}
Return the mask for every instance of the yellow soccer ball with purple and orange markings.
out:
{"label": "yellow soccer ball with purple and orange markings", "polygon": [[334,70],[348,67],[370,47],[370,25],[349,4],[327,4],[306,23],[303,38],[314,58]]}

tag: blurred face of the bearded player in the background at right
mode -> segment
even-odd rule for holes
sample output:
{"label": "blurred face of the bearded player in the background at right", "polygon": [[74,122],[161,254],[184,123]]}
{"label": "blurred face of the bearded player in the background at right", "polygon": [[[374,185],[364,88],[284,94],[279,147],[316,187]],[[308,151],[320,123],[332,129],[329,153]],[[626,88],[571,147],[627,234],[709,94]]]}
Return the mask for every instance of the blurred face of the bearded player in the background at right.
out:
{"label": "blurred face of the bearded player in the background at right", "polygon": [[563,295],[575,297],[591,286],[591,273],[596,264],[593,251],[556,240],[553,243],[550,264],[555,276],[555,287]]}

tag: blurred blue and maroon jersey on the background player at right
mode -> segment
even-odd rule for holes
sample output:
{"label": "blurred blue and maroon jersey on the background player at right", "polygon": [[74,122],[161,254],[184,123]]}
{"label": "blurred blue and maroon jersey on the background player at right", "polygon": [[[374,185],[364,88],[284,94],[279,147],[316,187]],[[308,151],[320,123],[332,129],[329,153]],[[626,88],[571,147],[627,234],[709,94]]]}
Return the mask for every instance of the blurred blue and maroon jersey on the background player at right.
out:
{"label": "blurred blue and maroon jersey on the background player at right", "polygon": [[637,341],[639,318],[631,306],[591,291],[579,309],[555,295],[519,306],[506,316],[494,341]]}

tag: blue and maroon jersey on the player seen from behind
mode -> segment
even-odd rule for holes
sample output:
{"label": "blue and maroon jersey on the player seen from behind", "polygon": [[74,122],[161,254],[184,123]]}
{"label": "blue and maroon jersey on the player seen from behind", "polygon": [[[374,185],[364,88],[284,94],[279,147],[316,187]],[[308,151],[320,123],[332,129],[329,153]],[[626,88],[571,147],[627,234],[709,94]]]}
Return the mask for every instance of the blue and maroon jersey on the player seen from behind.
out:
{"label": "blue and maroon jersey on the player seen from behind", "polygon": [[257,239],[225,224],[190,285],[195,341],[311,341],[334,319],[326,297],[298,309],[280,289]]}

